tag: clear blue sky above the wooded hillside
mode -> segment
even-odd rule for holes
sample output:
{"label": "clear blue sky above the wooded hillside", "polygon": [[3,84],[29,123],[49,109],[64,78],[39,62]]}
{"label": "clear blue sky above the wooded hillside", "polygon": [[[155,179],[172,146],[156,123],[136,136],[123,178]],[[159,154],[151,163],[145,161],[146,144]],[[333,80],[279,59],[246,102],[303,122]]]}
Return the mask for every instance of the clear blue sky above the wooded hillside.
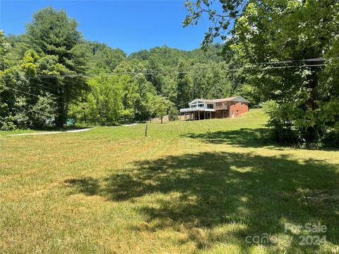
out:
{"label": "clear blue sky above the wooded hillside", "polygon": [[44,6],[64,9],[75,18],[87,40],[105,42],[127,54],[167,45],[184,50],[200,47],[208,18],[182,28],[184,1],[17,1],[0,0],[0,29],[6,35],[25,32],[32,13]]}

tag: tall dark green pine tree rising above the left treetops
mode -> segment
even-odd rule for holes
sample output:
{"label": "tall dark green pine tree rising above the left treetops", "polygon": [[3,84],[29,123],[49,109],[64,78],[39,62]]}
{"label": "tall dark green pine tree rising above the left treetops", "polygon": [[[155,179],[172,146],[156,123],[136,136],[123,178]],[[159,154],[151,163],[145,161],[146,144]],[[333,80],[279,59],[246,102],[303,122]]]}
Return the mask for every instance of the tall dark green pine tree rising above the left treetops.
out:
{"label": "tall dark green pine tree rising above the left treetops", "polygon": [[65,11],[56,11],[52,7],[35,13],[32,23],[27,25],[31,47],[47,57],[45,68],[38,74],[51,75],[44,81],[52,83],[57,99],[57,127],[66,122],[69,103],[87,87],[85,78],[78,75],[85,73],[85,58],[79,45],[82,35],[77,27],[76,20],[69,18]]}

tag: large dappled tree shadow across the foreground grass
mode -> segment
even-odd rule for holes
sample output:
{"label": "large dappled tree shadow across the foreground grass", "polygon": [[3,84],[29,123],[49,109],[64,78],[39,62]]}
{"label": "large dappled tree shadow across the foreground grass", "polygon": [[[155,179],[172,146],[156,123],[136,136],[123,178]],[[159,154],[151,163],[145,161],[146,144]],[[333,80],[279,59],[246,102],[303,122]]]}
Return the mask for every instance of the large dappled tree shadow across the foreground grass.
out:
{"label": "large dappled tree shadow across the foreground grass", "polygon": [[[246,236],[270,234],[283,237],[268,244],[273,250],[312,253],[319,246],[299,245],[299,234],[307,232],[285,232],[284,226],[321,223],[328,227],[327,241],[339,243],[338,169],[288,156],[201,152],[135,162],[129,171],[102,179],[66,182],[76,193],[138,204],[147,230],[188,232],[197,248],[218,242],[246,252],[251,248]],[[284,246],[284,237],[292,236],[292,244]]]}

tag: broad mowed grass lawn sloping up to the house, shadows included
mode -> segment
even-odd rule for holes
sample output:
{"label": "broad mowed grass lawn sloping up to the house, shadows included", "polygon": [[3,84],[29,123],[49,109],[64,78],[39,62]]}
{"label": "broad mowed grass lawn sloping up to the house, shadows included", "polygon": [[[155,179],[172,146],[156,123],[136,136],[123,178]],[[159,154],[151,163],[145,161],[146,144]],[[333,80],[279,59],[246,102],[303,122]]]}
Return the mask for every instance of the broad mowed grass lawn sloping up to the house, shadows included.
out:
{"label": "broad mowed grass lawn sloping up to the house, shadows included", "polygon": [[339,152],[269,145],[266,121],[0,133],[0,253],[339,253]]}

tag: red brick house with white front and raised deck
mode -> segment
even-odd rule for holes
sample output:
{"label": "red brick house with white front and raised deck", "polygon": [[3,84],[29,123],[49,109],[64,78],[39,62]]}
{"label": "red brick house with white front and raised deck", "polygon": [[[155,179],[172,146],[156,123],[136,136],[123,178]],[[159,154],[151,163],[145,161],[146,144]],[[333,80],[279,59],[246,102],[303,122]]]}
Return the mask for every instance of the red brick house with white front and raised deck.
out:
{"label": "red brick house with white front and raised deck", "polygon": [[249,111],[249,101],[241,96],[223,99],[194,99],[189,108],[180,109],[180,119],[201,120],[237,117]]}

